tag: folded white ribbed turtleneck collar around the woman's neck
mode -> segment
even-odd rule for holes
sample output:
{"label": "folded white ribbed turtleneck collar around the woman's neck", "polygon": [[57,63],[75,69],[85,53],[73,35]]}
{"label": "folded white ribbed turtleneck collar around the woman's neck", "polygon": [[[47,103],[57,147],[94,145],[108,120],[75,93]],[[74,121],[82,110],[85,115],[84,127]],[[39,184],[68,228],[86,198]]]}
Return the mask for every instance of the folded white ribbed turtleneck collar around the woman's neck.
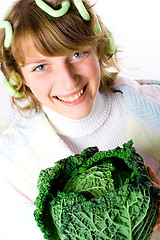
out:
{"label": "folded white ribbed turtleneck collar around the woman's neck", "polygon": [[43,106],[43,111],[58,135],[76,138],[92,134],[101,127],[108,118],[110,108],[109,94],[98,92],[90,114],[83,119],[73,120],[67,118],[46,106]]}

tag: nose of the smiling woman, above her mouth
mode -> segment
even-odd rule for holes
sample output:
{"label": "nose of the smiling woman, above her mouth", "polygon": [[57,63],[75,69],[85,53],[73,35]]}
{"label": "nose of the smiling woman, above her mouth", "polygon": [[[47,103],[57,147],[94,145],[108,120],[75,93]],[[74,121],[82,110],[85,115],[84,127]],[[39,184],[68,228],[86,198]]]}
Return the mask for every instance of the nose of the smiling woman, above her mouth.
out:
{"label": "nose of the smiling woman, above her mouth", "polygon": [[68,91],[73,90],[78,83],[78,75],[76,74],[74,66],[65,62],[61,67],[61,82]]}

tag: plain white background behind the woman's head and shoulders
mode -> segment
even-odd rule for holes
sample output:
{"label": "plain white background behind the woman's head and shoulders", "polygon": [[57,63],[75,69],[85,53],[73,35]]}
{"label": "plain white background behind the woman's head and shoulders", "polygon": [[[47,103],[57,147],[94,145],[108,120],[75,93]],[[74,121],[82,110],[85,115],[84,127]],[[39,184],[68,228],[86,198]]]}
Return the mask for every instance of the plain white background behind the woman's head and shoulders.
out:
{"label": "plain white background behind the woman's head and shoulders", "polygon": [[[13,2],[3,1],[0,20]],[[160,80],[160,1],[97,0],[95,10],[123,51],[119,56],[123,58],[122,74],[136,79]],[[10,112],[9,96],[0,74],[0,121]]]}

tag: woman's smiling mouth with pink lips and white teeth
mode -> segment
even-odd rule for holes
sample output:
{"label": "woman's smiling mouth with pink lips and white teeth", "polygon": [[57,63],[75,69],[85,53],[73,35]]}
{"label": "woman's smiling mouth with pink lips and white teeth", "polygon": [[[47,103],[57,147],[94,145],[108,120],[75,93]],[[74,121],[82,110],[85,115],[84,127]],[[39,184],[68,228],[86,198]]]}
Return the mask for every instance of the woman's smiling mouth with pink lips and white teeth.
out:
{"label": "woman's smiling mouth with pink lips and white teeth", "polygon": [[80,90],[78,90],[72,95],[56,96],[53,98],[67,105],[76,105],[83,101],[86,95],[86,90],[87,90],[87,85],[85,85],[83,88],[81,88]]}

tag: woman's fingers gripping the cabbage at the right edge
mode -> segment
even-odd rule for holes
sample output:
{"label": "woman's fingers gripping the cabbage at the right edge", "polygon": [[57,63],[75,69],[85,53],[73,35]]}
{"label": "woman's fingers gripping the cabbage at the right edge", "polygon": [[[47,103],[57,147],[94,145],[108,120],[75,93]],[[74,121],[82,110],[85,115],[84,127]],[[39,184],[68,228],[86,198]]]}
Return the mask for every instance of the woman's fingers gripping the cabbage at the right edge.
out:
{"label": "woman's fingers gripping the cabbage at the right edge", "polygon": [[[160,189],[160,181],[150,166],[147,166],[147,171],[152,180],[151,184]],[[153,226],[153,231],[154,232],[160,231],[160,201],[158,203],[158,217],[156,223]]]}

